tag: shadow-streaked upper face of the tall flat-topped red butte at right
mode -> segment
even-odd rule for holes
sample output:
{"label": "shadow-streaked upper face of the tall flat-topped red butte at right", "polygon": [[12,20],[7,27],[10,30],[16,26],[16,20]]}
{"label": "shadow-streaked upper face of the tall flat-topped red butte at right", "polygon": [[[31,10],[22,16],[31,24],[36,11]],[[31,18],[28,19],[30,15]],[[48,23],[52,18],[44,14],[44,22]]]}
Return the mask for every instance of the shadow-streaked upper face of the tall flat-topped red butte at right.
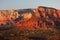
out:
{"label": "shadow-streaked upper face of the tall flat-topped red butte at right", "polygon": [[59,27],[60,25],[60,12],[55,8],[38,7],[40,20],[45,23],[45,27]]}

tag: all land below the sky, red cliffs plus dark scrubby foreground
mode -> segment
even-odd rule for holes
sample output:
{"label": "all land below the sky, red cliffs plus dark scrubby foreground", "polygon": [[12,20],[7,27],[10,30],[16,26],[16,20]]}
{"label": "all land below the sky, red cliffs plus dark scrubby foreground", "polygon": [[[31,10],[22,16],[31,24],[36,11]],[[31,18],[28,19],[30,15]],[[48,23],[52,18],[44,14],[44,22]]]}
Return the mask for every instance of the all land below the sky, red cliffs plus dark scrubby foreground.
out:
{"label": "all land below the sky, red cliffs plus dark scrubby foreground", "polygon": [[0,40],[60,40],[60,10],[0,10]]}

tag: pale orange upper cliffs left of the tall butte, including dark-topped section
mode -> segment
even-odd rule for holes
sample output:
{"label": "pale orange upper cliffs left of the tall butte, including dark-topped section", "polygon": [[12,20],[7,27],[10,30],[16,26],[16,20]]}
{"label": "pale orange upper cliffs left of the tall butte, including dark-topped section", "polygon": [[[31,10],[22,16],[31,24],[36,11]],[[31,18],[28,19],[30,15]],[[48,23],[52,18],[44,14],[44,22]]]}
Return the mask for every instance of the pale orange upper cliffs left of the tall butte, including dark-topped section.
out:
{"label": "pale orange upper cliffs left of the tall butte, including dark-topped section", "polygon": [[[2,10],[0,11],[0,24],[5,24],[6,20],[11,21],[27,21],[34,14],[31,9],[23,9],[23,10]],[[3,22],[4,21],[4,22]]]}

